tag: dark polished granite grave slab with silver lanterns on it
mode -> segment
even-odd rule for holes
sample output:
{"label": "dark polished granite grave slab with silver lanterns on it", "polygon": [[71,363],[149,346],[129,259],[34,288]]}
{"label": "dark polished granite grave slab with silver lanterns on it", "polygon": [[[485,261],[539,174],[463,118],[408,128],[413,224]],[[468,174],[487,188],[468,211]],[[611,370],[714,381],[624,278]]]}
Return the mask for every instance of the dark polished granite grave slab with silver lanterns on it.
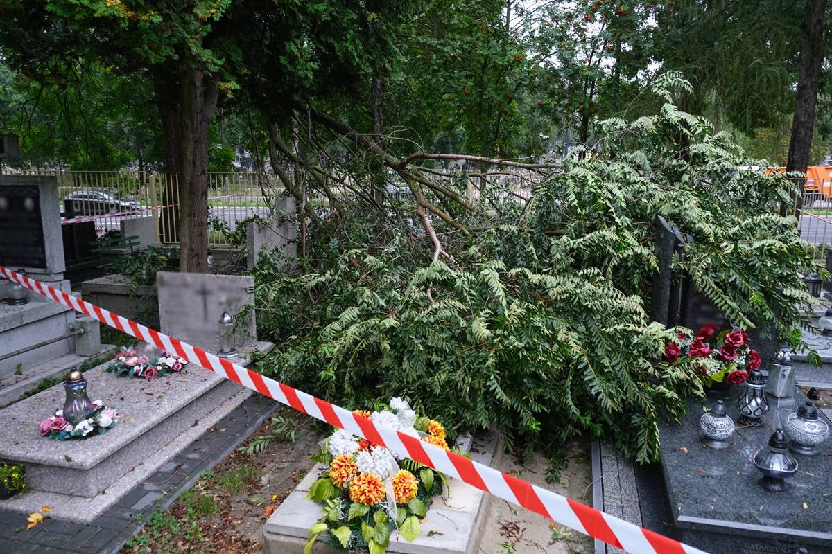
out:
{"label": "dark polished granite grave slab with silver lanterns on it", "polygon": [[[734,401],[744,387],[732,389],[725,400],[736,420]],[[763,427],[740,427],[725,450],[701,444],[698,404],[691,404],[681,425],[660,425],[664,480],[682,542],[711,554],[795,554],[801,547],[832,553],[832,440],[818,456],[795,456],[800,467],[785,492],[758,484],[754,454],[789,411],[772,407]]]}

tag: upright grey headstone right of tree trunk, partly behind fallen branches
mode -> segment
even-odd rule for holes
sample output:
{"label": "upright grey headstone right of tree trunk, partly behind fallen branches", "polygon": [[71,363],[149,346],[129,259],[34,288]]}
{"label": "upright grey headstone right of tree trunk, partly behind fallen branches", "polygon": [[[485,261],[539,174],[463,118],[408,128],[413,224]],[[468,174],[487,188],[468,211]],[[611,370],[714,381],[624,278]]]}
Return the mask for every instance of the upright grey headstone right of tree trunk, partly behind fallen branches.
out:
{"label": "upright grey headstone right of tree trunk, partly behind fallen branches", "polygon": [[278,200],[275,213],[265,225],[255,221],[245,223],[246,267],[255,267],[262,251],[275,254],[280,263],[295,257],[298,230],[295,219],[291,217],[294,214],[295,199],[285,198]]}

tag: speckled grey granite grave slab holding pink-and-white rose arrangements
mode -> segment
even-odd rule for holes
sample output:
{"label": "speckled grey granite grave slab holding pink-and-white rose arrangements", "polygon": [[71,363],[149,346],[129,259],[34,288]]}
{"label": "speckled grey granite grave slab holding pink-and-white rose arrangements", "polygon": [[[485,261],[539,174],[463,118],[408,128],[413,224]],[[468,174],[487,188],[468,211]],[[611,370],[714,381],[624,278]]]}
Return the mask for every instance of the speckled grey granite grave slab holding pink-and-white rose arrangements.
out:
{"label": "speckled grey granite grave slab holding pink-and-white rose arrangements", "polygon": [[[240,356],[248,362],[245,352]],[[84,374],[90,399],[121,414],[105,434],[60,442],[40,436],[37,424],[63,405],[61,385],[0,409],[0,459],[23,463],[29,486],[22,497],[0,501],[0,509],[28,513],[45,504],[51,517],[92,521],[251,394],[196,365],[154,381],[105,369]]]}

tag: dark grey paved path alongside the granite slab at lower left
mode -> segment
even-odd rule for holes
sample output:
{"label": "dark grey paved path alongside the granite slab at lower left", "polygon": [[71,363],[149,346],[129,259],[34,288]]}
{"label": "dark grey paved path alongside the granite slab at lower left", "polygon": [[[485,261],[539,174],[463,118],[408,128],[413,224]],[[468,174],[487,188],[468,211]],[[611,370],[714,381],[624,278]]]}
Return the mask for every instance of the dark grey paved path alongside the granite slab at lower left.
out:
{"label": "dark grey paved path alongside the granite slab at lower left", "polygon": [[275,411],[274,400],[254,395],[213,429],[178,453],[90,525],[59,522],[26,530],[26,515],[0,511],[0,554],[112,554],[144,527],[153,512],[165,510],[201,474],[234,451]]}

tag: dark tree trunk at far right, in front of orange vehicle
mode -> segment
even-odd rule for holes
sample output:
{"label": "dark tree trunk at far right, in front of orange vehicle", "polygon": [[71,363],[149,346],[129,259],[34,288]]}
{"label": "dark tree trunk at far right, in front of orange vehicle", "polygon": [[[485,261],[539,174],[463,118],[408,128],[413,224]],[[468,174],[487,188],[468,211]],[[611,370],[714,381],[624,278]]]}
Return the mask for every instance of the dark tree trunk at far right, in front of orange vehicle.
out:
{"label": "dark tree trunk at far right, in front of orange vehicle", "polygon": [[[803,47],[800,51],[800,76],[797,81],[795,120],[791,127],[789,158],[786,171],[805,173],[809,166],[812,134],[815,130],[815,105],[818,101],[820,71],[824,61],[826,0],[806,0],[803,12]],[[795,208],[800,209],[805,179],[800,179],[800,196]]]}

